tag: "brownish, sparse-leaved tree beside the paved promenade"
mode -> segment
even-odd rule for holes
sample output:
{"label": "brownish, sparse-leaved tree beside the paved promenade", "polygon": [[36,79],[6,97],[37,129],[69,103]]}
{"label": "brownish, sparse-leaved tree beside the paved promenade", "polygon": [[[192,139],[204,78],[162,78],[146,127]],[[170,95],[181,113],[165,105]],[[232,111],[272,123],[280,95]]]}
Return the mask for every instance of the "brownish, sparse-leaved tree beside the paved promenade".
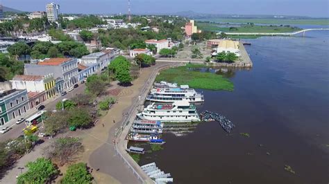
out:
{"label": "brownish, sparse-leaved tree beside the paved promenade", "polygon": [[60,165],[76,160],[76,154],[83,151],[83,145],[79,138],[57,138],[53,144],[44,148],[44,155]]}

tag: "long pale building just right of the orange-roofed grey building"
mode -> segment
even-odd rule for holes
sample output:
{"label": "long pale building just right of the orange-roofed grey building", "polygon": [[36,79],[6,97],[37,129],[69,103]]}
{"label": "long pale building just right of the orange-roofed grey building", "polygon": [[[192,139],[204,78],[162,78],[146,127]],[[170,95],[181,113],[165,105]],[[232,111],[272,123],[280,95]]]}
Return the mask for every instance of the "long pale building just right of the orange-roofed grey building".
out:
{"label": "long pale building just right of the orange-roofed grey building", "polygon": [[114,49],[106,49],[98,53],[84,55],[81,58],[81,64],[84,66],[92,66],[92,64],[96,64],[96,70],[103,69],[115,59],[115,55],[116,53]]}

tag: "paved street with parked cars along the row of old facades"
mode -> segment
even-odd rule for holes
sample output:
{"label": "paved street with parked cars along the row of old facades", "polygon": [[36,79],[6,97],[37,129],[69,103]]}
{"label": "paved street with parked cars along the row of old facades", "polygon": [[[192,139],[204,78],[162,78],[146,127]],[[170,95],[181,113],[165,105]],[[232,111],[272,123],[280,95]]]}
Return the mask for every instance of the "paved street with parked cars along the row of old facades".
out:
{"label": "paved street with parked cars along the row of old facades", "polygon": [[[56,109],[56,104],[57,102],[60,102],[60,100],[62,100],[63,98],[73,98],[75,95],[79,94],[79,93],[83,93],[83,91],[85,91],[85,84],[78,84],[78,88],[74,89],[73,91],[70,91],[67,93],[67,95],[65,96],[61,96],[60,94],[58,94],[55,98],[49,99],[45,102],[43,102],[42,104],[44,104],[44,106],[46,107],[45,110],[46,111],[53,111],[54,109]],[[24,122],[22,122],[19,125],[16,125],[15,122],[19,119],[19,118],[28,118],[30,116],[32,116],[33,114],[35,114],[37,112],[37,109],[30,109],[29,111],[26,112],[26,114],[14,119],[14,120],[10,120],[10,122],[6,123],[6,125],[4,125],[3,127],[12,127],[12,129],[10,129],[10,131],[7,131],[5,134],[0,134],[0,141],[5,141],[8,139],[12,139],[12,138],[17,138],[18,136],[23,134],[23,129],[26,127]],[[39,125],[41,126],[41,125]],[[0,126],[0,128],[2,128]]]}

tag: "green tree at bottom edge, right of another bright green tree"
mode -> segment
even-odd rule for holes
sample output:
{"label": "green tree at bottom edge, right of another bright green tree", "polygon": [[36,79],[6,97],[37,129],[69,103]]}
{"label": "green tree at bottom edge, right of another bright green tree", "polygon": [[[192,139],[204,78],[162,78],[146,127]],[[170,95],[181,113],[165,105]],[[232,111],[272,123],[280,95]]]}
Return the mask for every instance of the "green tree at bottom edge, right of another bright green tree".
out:
{"label": "green tree at bottom edge, right of another bright green tree", "polygon": [[89,184],[92,181],[92,175],[87,171],[85,163],[70,165],[65,173],[62,184],[81,183]]}

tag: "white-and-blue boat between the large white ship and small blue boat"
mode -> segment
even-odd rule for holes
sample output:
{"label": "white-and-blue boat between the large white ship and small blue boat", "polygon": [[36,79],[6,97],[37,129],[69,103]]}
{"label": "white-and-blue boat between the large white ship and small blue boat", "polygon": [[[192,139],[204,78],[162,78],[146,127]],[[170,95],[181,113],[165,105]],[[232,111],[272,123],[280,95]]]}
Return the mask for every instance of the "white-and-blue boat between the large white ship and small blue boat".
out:
{"label": "white-and-blue boat between the large white ship and small blue boat", "polygon": [[160,121],[152,120],[135,120],[130,132],[152,134],[162,134],[163,124]]}

